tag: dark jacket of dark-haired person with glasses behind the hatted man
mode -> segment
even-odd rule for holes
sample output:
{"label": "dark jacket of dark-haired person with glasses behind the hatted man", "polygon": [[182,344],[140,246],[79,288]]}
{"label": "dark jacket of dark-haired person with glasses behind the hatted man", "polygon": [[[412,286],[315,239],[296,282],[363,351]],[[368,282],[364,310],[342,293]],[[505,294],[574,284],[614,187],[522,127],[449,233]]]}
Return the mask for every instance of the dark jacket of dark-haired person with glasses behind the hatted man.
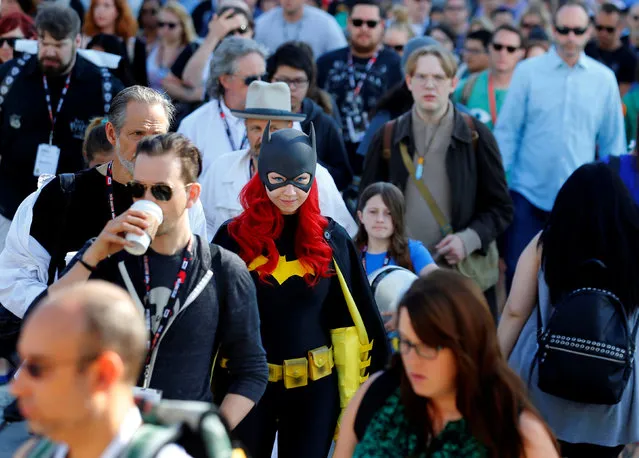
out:
{"label": "dark jacket of dark-haired person with glasses behind the hatted man", "polygon": [[348,163],[339,126],[334,118],[324,113],[324,110],[311,99],[306,98],[302,101],[302,113],[306,115],[306,119],[301,123],[302,131],[310,135],[311,122],[315,128],[317,160],[328,169],[337,189],[343,191],[351,184],[353,171]]}

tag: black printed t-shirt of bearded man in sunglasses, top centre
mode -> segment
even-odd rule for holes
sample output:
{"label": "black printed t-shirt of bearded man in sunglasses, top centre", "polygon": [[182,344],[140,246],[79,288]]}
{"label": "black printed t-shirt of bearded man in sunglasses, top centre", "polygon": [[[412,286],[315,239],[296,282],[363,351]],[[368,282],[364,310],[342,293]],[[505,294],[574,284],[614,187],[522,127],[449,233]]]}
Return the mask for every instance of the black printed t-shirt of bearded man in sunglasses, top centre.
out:
{"label": "black printed t-shirt of bearded man in sunglasses, top centre", "polygon": [[[324,54],[317,60],[317,85],[331,94],[342,117],[344,143],[355,174],[361,172],[361,164],[354,163],[360,136],[366,132],[372,112],[386,91],[402,79],[399,55],[388,48],[380,50],[377,60],[366,72],[367,58],[353,58],[354,81],[357,86],[362,77],[365,82],[358,95],[350,83],[348,56],[350,48],[342,48]],[[361,162],[361,157],[359,157]]]}

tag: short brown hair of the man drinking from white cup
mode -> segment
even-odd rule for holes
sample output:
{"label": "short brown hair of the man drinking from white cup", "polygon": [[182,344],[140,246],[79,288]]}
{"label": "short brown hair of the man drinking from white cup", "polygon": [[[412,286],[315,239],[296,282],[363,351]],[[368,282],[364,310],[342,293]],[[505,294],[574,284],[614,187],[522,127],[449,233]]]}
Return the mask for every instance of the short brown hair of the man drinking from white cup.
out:
{"label": "short brown hair of the man drinking from white cup", "polygon": [[182,134],[170,132],[144,137],[138,143],[135,157],[140,154],[157,157],[169,153],[175,153],[180,158],[184,183],[195,183],[202,173],[202,154],[197,146]]}

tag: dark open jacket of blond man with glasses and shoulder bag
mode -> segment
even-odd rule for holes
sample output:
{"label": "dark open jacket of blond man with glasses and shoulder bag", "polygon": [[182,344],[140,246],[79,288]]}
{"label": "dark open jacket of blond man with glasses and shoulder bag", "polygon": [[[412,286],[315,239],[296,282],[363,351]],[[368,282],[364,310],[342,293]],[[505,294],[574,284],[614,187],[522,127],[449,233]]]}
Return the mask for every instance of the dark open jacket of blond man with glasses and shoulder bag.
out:
{"label": "dark open jacket of blond man with glasses and shoulder bag", "polygon": [[[473,229],[485,249],[512,221],[513,204],[495,137],[484,124],[475,119],[473,122],[479,134],[477,151],[473,151],[471,130],[455,108],[453,135],[446,155],[452,202],[450,223],[455,232]],[[399,144],[404,142],[411,157],[414,156],[412,110],[397,118],[389,159],[382,156],[383,134],[384,127],[375,134],[366,154],[360,190],[377,181],[391,182],[402,191],[406,189],[409,176]]]}

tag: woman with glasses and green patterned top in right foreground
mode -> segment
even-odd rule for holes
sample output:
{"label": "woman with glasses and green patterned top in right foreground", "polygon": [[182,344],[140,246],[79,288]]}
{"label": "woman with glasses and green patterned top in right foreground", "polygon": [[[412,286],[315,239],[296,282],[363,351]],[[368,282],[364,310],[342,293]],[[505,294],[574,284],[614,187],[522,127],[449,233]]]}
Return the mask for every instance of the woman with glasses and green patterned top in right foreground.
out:
{"label": "woman with glasses and green patterned top in right foreground", "polygon": [[398,313],[400,352],[352,399],[334,458],[559,457],[471,280],[432,272]]}

